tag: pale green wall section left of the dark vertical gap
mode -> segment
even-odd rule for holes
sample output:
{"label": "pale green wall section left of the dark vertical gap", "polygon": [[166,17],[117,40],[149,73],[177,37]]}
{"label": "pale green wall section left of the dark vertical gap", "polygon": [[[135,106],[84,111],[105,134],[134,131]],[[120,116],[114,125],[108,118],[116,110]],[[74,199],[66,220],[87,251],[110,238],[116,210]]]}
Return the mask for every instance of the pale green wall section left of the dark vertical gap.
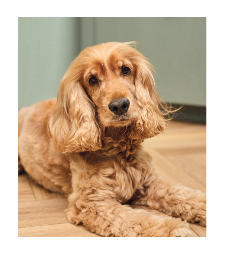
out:
{"label": "pale green wall section left of the dark vertical gap", "polygon": [[80,51],[75,17],[19,17],[19,108],[57,97]]}

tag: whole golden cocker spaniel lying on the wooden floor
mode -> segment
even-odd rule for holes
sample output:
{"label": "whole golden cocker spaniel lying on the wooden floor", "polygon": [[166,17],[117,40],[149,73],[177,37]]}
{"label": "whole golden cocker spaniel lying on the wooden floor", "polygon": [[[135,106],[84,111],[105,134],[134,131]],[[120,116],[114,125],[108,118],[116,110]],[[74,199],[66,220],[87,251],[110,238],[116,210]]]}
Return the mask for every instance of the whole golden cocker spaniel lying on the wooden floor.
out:
{"label": "whole golden cocker spaniel lying on the wooden floor", "polygon": [[189,237],[187,221],[206,225],[206,193],[157,176],[142,149],[145,138],[163,133],[172,110],[157,94],[152,65],[133,45],[84,49],[57,99],[19,110],[18,169],[64,193],[68,221],[101,236]]}

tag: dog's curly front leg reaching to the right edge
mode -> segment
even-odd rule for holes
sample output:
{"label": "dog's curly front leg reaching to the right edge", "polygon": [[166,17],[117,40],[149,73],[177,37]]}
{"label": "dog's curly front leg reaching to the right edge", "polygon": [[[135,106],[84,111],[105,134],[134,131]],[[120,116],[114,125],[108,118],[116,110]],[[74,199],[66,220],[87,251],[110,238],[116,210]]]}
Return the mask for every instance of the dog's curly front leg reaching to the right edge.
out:
{"label": "dog's curly front leg reaching to the right edge", "polygon": [[154,173],[147,189],[136,191],[134,203],[206,226],[206,193],[167,182]]}

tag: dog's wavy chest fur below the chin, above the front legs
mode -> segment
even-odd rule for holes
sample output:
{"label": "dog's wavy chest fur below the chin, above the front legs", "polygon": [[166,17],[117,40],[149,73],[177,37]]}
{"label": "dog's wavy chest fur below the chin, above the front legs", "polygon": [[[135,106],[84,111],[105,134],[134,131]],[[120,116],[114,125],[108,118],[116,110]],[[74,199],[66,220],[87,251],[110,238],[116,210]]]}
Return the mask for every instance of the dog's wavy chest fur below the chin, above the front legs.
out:
{"label": "dog's wavy chest fur below the chin, above the front legs", "polygon": [[74,154],[73,158],[70,157],[73,189],[101,186],[102,190],[115,194],[122,203],[131,199],[137,189],[143,189],[144,170],[149,165],[141,142],[126,136],[116,141],[106,138],[102,150]]}

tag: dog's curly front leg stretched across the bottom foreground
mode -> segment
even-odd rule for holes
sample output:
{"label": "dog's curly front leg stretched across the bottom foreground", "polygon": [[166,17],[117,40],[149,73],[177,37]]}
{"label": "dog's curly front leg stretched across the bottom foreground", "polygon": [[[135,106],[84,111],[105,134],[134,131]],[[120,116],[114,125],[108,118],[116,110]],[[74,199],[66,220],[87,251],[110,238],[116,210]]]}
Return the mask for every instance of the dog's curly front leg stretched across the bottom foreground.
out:
{"label": "dog's curly front leg stretched across the bottom foreground", "polygon": [[[95,185],[95,186],[94,186]],[[83,187],[72,193],[67,217],[83,223],[91,232],[115,237],[190,237],[192,231],[180,218],[154,215],[143,209],[121,205],[108,187]]]}

